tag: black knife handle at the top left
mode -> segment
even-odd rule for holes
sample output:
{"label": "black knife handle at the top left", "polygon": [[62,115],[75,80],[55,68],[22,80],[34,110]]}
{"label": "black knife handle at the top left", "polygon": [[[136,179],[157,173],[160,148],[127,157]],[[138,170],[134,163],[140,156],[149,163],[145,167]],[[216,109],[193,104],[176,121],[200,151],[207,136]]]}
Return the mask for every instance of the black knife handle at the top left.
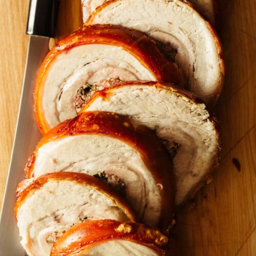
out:
{"label": "black knife handle at the top left", "polygon": [[30,0],[27,34],[54,37],[59,0]]}

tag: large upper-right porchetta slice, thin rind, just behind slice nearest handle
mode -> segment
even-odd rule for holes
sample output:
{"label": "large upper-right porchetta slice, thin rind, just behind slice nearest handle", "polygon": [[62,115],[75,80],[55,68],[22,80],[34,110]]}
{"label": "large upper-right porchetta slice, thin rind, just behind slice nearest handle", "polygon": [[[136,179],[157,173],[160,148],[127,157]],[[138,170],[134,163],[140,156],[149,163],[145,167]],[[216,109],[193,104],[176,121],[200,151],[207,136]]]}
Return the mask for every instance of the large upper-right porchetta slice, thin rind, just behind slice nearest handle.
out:
{"label": "large upper-right porchetta slice, thin rind, just behind slice nearest handle", "polygon": [[[146,33],[175,58],[183,86],[212,106],[222,90],[224,65],[218,36],[185,1],[111,0],[86,25],[115,24]],[[176,54],[177,53],[177,54]]]}

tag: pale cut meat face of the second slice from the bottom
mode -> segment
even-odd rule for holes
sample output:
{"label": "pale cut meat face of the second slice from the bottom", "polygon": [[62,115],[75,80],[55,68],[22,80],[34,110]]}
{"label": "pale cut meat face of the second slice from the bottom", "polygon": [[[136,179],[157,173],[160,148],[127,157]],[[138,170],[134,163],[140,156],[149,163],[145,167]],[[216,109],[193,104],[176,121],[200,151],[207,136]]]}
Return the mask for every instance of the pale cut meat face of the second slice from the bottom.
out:
{"label": "pale cut meat face of the second slice from the bottom", "polygon": [[49,234],[65,231],[84,217],[128,220],[120,205],[99,190],[75,181],[50,180],[30,191],[18,209],[21,243],[29,256],[49,255]]}

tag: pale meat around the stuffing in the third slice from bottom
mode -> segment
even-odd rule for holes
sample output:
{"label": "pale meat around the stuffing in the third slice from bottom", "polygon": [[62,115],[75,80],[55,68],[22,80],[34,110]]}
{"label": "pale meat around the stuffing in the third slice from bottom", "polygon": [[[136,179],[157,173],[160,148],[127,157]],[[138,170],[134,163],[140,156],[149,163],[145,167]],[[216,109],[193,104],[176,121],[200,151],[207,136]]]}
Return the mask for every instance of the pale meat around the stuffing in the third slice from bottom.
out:
{"label": "pale meat around the stuffing in the third slice from bottom", "polygon": [[55,139],[38,148],[34,176],[53,172],[115,174],[125,183],[127,200],[148,225],[157,225],[159,190],[141,155],[119,139],[84,134]]}

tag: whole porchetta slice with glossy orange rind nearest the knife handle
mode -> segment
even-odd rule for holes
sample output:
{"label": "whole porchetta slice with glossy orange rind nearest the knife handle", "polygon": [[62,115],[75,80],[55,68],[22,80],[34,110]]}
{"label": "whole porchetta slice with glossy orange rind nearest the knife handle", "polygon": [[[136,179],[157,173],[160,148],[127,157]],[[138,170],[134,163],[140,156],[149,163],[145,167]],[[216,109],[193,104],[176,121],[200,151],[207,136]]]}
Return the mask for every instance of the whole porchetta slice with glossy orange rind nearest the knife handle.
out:
{"label": "whole porchetta slice with glossy orange rind nearest the knife handle", "polygon": [[115,81],[179,83],[177,66],[139,31],[120,26],[81,28],[61,39],[42,63],[36,78],[34,110],[45,134],[73,118],[96,90]]}

